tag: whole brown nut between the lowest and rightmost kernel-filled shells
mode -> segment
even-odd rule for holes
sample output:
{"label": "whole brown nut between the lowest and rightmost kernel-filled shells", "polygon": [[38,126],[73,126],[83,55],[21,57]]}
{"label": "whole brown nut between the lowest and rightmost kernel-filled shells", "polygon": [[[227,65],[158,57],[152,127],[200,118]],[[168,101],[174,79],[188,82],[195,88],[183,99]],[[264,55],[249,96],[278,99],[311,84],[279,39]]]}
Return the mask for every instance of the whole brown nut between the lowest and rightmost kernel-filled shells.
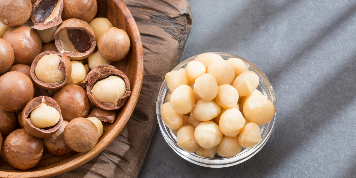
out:
{"label": "whole brown nut between the lowest and rightmost kernel-filled shells", "polygon": [[78,85],[66,85],[58,90],[53,99],[62,111],[63,119],[71,121],[77,117],[86,117],[90,110],[87,93]]}

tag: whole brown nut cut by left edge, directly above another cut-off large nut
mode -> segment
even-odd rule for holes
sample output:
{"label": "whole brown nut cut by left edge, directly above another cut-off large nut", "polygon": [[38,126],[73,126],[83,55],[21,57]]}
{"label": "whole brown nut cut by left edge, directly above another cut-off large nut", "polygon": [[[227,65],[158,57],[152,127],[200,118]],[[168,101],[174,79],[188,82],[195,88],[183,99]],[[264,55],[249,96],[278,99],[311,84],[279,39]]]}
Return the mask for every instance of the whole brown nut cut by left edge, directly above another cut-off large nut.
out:
{"label": "whole brown nut cut by left edge, directly above another cut-off large nut", "polygon": [[14,63],[14,50],[10,43],[0,38],[0,73],[5,72]]}

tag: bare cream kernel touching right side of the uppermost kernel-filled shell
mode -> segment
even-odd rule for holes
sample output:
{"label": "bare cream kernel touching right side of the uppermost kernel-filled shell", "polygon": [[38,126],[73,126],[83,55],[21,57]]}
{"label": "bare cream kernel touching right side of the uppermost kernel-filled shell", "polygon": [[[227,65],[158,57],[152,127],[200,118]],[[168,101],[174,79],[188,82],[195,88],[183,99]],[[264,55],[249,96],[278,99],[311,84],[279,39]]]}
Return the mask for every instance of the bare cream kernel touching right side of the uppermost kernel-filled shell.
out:
{"label": "bare cream kernel touching right side of the uppermost kernel-filled shell", "polygon": [[87,77],[87,69],[79,61],[70,61],[70,63],[72,63],[72,75],[66,85],[78,85]]}

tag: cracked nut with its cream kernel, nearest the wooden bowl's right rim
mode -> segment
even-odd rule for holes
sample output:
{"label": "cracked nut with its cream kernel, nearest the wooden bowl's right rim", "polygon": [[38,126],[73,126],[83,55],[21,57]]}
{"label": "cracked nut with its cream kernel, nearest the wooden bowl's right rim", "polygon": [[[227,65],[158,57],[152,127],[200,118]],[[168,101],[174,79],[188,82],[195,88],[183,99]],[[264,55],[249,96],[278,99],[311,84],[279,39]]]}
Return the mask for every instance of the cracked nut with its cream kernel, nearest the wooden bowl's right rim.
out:
{"label": "cracked nut with its cream kernel, nearest the wooden bowl's right rim", "polygon": [[[98,67],[98,66],[97,66]],[[95,69],[95,68],[94,68]],[[127,76],[122,73],[120,70],[118,69],[114,69],[111,67],[103,67],[103,68],[98,68],[96,70],[91,70],[91,74],[89,75],[88,78],[88,86],[87,86],[87,94],[88,94],[88,98],[89,100],[95,105],[98,106],[101,109],[105,109],[105,110],[116,110],[121,108],[121,106],[123,106],[126,102],[126,100],[130,97],[131,91],[130,91],[130,81],[127,78]],[[88,77],[88,76],[87,76]],[[114,83],[114,82],[109,82],[109,83],[103,83],[104,80],[112,80],[112,79],[118,79],[118,80],[123,80],[125,86],[120,90],[120,93],[122,93],[122,96],[117,99],[117,102],[114,103],[109,103],[109,102],[100,102],[99,100],[103,101],[105,99],[109,99],[112,100],[112,98],[115,98],[113,96],[115,95],[110,95],[111,93],[117,93],[117,92],[108,92],[108,89],[114,89],[116,88],[118,85],[116,85],[115,83],[115,87],[110,87],[107,84],[109,83]],[[114,80],[112,80],[114,81]],[[122,82],[122,81],[121,81]],[[104,85],[99,85],[100,84],[104,84]],[[98,84],[98,85],[96,85]],[[105,88],[103,88],[105,87]],[[98,95],[95,97],[95,93],[93,94],[93,91],[96,90],[98,91],[98,94],[100,94],[100,98],[98,100]],[[116,95],[117,97],[117,95]]]}

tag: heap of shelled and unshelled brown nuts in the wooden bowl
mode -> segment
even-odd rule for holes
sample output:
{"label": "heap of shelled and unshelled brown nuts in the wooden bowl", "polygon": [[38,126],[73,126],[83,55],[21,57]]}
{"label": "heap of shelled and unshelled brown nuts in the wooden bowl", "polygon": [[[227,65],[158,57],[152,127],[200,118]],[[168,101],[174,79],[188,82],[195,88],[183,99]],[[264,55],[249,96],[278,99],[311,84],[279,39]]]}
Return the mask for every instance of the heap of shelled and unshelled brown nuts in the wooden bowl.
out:
{"label": "heap of shelled and unshelled brown nuts in the wooden bowl", "polygon": [[0,0],[0,153],[13,167],[36,166],[44,148],[91,150],[129,98],[110,64],[130,38],[97,11],[96,0]]}

